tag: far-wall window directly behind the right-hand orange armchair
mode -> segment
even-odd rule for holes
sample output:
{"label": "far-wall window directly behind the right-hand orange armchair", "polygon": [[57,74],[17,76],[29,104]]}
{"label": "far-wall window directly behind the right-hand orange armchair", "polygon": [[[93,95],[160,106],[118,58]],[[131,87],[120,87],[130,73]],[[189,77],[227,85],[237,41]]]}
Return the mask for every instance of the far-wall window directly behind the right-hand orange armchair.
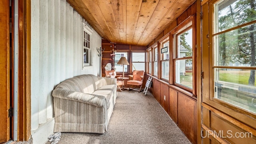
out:
{"label": "far-wall window directly behind the right-hand orange armchair", "polygon": [[145,52],[132,52],[132,71],[145,71]]}

